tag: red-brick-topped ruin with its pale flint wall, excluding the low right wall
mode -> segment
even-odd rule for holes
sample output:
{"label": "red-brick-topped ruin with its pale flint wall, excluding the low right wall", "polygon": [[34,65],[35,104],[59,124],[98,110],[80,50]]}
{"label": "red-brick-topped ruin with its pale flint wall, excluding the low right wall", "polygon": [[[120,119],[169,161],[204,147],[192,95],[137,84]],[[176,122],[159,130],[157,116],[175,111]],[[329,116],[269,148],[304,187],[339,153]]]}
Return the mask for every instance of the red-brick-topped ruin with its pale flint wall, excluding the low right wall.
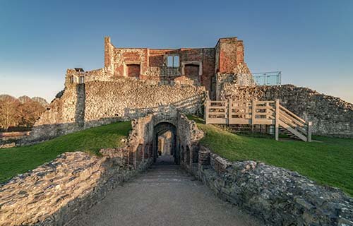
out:
{"label": "red-brick-topped ruin with its pale flint wall, excluding the low right wall", "polygon": [[[170,66],[168,59],[178,57]],[[170,63],[170,62],[169,62]],[[179,65],[178,65],[179,64]],[[42,114],[22,144],[35,143],[80,129],[143,117],[173,106],[200,113],[205,90],[219,83],[252,84],[237,37],[221,38],[213,48],[116,48],[104,39],[104,68],[68,69],[64,93]],[[227,78],[225,78],[227,77]]]}

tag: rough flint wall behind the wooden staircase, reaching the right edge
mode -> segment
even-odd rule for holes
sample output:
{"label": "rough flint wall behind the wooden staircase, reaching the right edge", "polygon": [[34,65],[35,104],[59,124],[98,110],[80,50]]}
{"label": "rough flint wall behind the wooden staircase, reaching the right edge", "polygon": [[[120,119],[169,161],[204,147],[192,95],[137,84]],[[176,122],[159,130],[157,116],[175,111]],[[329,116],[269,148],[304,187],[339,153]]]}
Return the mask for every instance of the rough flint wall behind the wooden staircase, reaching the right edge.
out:
{"label": "rough flint wall behind the wooden staircase, reaching the right edge", "polygon": [[280,104],[306,121],[313,121],[313,134],[353,138],[353,105],[344,100],[295,85],[254,87],[225,86],[223,95],[232,100],[280,100]]}

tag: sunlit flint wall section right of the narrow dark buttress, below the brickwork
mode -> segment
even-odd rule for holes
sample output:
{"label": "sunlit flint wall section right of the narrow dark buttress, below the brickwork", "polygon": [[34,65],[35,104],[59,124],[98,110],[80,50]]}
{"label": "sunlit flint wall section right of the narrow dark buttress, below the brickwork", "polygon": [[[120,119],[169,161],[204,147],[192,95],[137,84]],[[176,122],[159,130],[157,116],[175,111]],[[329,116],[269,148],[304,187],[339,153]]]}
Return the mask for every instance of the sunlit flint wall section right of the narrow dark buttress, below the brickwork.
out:
{"label": "sunlit flint wall section right of the narrow dark buttress, below the brickwork", "polygon": [[85,121],[137,118],[173,105],[193,114],[203,105],[205,88],[194,85],[148,85],[142,81],[88,82],[85,84]]}

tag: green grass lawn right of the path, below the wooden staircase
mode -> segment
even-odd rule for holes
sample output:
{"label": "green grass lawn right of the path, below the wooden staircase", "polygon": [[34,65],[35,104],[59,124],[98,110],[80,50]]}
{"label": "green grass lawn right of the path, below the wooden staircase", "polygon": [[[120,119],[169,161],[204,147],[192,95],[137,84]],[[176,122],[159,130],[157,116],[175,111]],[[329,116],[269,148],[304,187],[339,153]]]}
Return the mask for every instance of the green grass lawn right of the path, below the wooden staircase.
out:
{"label": "green grass lawn right of the path, below the wooden staircase", "polygon": [[258,160],[297,171],[319,184],[328,184],[353,196],[353,139],[314,136],[320,142],[275,141],[274,138],[239,136],[205,125],[189,116],[205,131],[201,143],[231,161]]}

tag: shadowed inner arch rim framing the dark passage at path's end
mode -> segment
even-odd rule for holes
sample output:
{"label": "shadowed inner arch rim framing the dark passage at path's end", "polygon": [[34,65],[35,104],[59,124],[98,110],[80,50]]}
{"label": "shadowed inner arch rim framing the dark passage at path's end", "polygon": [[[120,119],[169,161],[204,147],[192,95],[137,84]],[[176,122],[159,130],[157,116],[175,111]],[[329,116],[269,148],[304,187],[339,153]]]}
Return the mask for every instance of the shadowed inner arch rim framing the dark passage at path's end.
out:
{"label": "shadowed inner arch rim framing the dark passage at path's end", "polygon": [[180,155],[179,155],[179,148],[177,148],[177,127],[174,124],[167,121],[162,121],[153,127],[153,148],[152,148],[153,161],[155,162],[157,160],[157,157],[159,156],[158,154],[159,138],[168,131],[172,133],[172,137],[171,137],[172,144],[171,144],[170,153],[174,157],[175,164],[179,165]]}

